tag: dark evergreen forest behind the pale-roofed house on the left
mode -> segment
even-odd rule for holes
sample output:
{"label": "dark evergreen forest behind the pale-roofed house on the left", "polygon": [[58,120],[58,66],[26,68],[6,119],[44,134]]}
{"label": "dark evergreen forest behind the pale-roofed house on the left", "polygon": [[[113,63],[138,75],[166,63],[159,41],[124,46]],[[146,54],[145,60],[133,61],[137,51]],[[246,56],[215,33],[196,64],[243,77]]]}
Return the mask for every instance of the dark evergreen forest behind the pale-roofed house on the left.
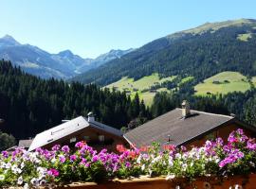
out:
{"label": "dark evergreen forest behind the pale-roofed house on the left", "polygon": [[94,112],[96,119],[120,129],[138,118],[150,118],[138,96],[101,90],[96,85],[65,83],[63,80],[42,79],[12,67],[0,60],[0,130],[15,138],[33,137],[38,132],[78,115]]}

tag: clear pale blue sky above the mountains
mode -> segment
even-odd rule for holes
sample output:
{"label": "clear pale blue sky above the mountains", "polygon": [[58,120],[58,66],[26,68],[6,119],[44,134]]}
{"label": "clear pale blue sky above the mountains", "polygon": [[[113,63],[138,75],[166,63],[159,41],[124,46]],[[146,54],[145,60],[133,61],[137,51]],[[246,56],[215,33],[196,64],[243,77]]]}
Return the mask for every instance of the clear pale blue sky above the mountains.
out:
{"label": "clear pale blue sky above the mountains", "polygon": [[0,0],[0,8],[0,37],[83,58],[206,22],[256,19],[255,0]]}

